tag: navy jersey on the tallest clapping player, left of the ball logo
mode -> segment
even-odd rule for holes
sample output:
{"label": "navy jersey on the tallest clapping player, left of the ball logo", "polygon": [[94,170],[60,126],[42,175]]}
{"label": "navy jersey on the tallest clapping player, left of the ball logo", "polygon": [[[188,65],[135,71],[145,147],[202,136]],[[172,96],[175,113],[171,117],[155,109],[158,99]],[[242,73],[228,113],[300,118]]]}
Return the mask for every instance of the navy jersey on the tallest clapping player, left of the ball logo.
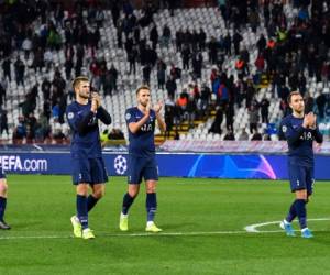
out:
{"label": "navy jersey on the tallest clapping player, left of the ball logo", "polygon": [[73,132],[73,157],[101,157],[101,143],[98,120],[105,124],[111,123],[110,114],[99,107],[97,113],[90,111],[91,102],[79,105],[74,101],[66,108],[66,118]]}

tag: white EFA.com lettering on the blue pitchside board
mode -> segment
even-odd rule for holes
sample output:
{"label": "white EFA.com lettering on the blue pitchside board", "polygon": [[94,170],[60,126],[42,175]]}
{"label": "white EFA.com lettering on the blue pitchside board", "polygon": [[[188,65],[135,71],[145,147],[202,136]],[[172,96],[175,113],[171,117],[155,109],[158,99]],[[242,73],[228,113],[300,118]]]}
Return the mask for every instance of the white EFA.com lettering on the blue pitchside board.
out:
{"label": "white EFA.com lettering on the blue pitchside board", "polygon": [[47,164],[47,160],[26,158],[22,161],[21,157],[16,155],[1,155],[0,168],[3,170],[11,170],[11,172],[15,172],[15,170],[42,172],[48,169],[48,164]]}

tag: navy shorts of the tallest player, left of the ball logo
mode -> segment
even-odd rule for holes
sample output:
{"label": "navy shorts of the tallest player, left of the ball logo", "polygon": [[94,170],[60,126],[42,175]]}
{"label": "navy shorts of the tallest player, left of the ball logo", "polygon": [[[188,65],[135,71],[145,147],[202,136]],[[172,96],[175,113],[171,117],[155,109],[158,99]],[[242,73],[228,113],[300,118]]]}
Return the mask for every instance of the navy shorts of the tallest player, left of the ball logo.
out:
{"label": "navy shorts of the tallest player, left of the ball logo", "polygon": [[108,182],[108,173],[102,157],[98,158],[73,158],[73,183],[78,184],[103,184]]}

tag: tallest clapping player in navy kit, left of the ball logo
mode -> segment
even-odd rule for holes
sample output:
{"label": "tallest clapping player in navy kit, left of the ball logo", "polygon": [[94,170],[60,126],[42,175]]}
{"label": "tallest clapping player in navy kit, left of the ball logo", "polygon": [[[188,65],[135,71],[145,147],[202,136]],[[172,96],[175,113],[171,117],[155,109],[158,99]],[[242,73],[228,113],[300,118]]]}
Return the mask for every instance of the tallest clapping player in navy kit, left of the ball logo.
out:
{"label": "tallest clapping player in navy kit, left of the ball logo", "polygon": [[[73,131],[73,182],[77,190],[77,215],[72,217],[72,223],[76,238],[94,239],[95,235],[88,227],[88,212],[103,196],[105,183],[108,182],[98,121],[109,125],[111,117],[101,107],[100,96],[90,91],[87,77],[77,77],[73,86],[76,101],[66,109],[67,121]],[[92,189],[89,196],[88,186]]]}

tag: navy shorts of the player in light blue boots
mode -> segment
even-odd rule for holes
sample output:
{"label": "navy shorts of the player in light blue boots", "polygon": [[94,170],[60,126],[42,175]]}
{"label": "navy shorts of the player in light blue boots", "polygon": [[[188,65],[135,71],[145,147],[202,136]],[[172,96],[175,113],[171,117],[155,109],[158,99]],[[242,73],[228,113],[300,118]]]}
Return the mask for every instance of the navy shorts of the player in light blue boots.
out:
{"label": "navy shorts of the player in light blue boots", "polygon": [[289,179],[292,191],[307,189],[307,194],[311,195],[314,189],[314,167],[299,165],[289,165]]}

